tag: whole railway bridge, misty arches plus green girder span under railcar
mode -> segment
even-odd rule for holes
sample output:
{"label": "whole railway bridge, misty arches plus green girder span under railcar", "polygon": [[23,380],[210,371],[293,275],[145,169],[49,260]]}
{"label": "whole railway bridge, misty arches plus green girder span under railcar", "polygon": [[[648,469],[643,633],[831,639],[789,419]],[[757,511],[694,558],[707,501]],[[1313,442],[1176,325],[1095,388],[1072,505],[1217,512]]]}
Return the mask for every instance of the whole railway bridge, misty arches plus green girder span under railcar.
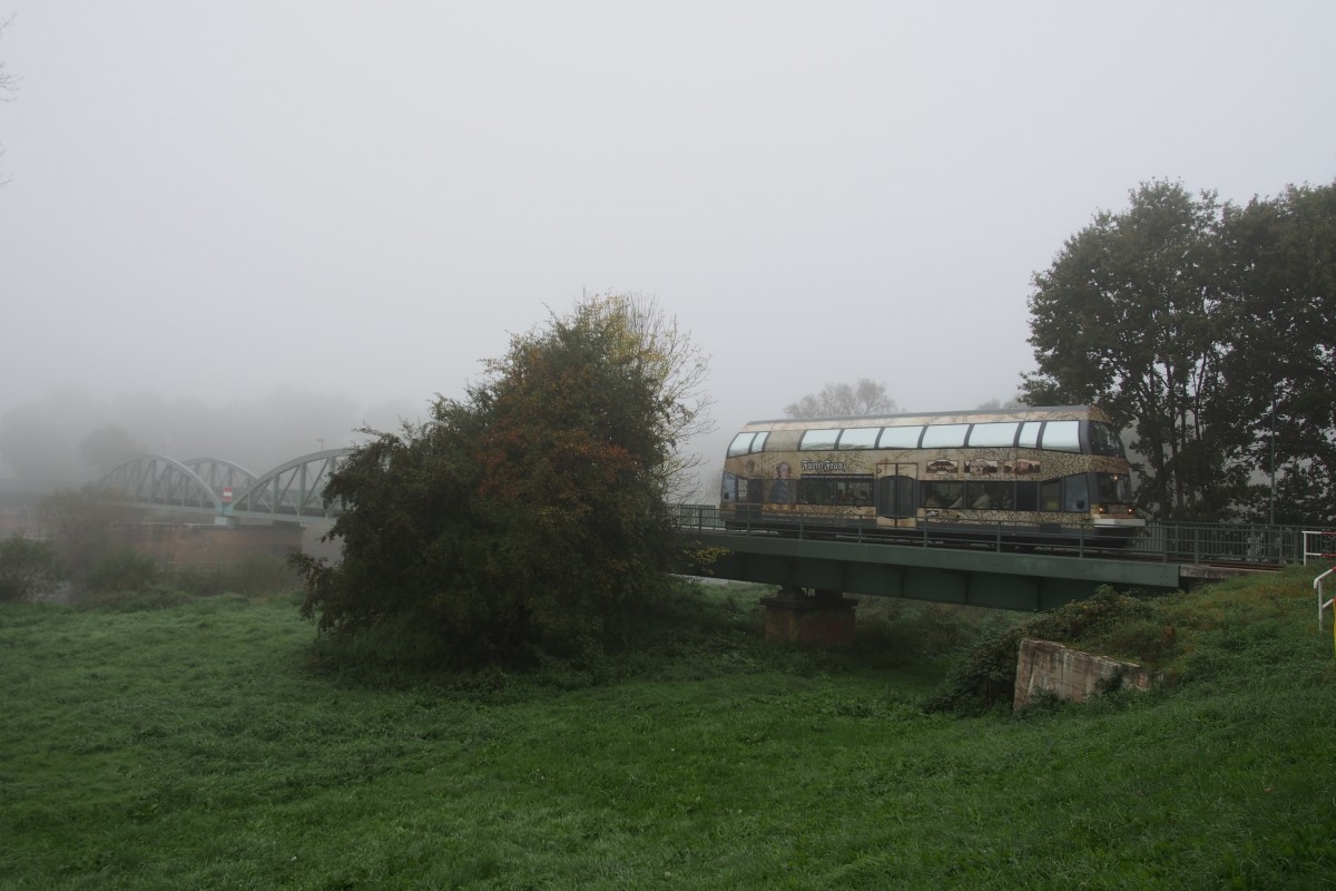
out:
{"label": "whole railway bridge, misty arches plus green girder span under railcar", "polygon": [[[215,525],[238,522],[330,524],[339,505],[325,504],[323,488],[347,457],[330,449],[253,474],[219,458],[175,461],[139,456],[99,484],[114,497],[144,508],[212,514]],[[931,529],[907,540],[862,532],[804,530],[775,534],[727,530],[712,505],[680,505],[685,537],[684,572],[776,585],[786,592],[875,594],[1006,609],[1050,609],[1092,596],[1101,585],[1120,590],[1169,592],[1237,572],[1297,562],[1316,545],[1297,528],[1164,524],[1150,525],[1126,548],[1109,550],[1090,540],[1066,548],[1019,550],[1005,541],[969,545],[934,540]],[[1336,544],[1321,546],[1336,550]],[[707,553],[705,564],[693,561]]]}

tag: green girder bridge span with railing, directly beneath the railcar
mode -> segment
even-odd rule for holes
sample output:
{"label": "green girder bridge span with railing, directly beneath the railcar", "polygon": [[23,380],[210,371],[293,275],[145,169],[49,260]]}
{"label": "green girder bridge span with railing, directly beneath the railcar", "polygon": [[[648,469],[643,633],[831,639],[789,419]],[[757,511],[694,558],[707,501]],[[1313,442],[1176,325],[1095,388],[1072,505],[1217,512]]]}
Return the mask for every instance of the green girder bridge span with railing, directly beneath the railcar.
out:
{"label": "green girder bridge span with railing, directly beneath the railcar", "polygon": [[1319,545],[1299,528],[1217,524],[1152,524],[1118,548],[1077,537],[1065,546],[1018,546],[991,540],[943,541],[930,528],[907,538],[828,529],[791,533],[723,528],[715,508],[683,506],[695,572],[778,585],[784,592],[906,597],[1002,609],[1051,609],[1083,600],[1102,585],[1165,593],[1202,581],[1297,562]]}

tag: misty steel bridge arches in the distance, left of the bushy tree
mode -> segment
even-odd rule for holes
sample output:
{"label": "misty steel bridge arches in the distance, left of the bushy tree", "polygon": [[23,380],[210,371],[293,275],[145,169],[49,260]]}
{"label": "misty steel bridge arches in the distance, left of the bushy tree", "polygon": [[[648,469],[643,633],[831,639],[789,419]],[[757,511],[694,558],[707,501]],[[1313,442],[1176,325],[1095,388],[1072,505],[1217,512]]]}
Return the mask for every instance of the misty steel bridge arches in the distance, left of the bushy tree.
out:
{"label": "misty steel bridge arches in the distance, left of the bushy tree", "polygon": [[313,452],[263,474],[222,458],[176,461],[140,454],[108,472],[98,486],[131,504],[163,510],[211,510],[230,520],[330,521],[338,505],[325,505],[325,484],[351,449]]}

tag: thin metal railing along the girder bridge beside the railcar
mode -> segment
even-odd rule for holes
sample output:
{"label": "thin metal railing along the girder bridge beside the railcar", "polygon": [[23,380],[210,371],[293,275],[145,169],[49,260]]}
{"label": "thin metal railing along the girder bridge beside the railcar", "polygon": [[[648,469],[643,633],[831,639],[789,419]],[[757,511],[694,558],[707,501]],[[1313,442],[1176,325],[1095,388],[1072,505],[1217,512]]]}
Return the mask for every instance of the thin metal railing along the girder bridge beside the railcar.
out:
{"label": "thin metal railing along the girder bridge beside the railcar", "polygon": [[[724,530],[739,534],[780,534],[772,522],[758,518],[729,520],[727,524],[713,505],[675,505],[673,516],[683,529]],[[1090,525],[1046,528],[1035,533],[1033,525],[997,522],[977,525],[967,541],[958,537],[959,526],[921,520],[914,528],[887,529],[862,522],[842,521],[828,516],[792,514],[783,534],[799,540],[839,540],[911,545],[919,548],[959,546],[987,548],[998,552],[1019,549],[1054,549],[1077,556],[1122,556],[1182,564],[1238,564],[1279,566],[1300,562],[1312,556],[1308,546],[1313,536],[1325,536],[1336,546],[1336,532],[1313,532],[1301,526],[1267,526],[1253,524],[1152,522],[1130,538],[1110,540],[1106,530]]]}

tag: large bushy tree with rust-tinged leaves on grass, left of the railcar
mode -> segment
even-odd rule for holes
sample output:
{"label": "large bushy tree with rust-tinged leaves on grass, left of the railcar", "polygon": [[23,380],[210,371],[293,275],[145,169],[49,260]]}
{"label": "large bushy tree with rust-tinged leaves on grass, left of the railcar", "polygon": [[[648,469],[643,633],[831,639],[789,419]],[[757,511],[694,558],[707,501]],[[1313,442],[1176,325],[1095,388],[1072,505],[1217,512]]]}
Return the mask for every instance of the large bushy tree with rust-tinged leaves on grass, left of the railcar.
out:
{"label": "large bushy tree with rust-tinged leaves on grass, left of the railcar", "polygon": [[322,633],[410,622],[456,663],[573,652],[665,590],[699,353],[652,302],[605,295],[485,367],[428,422],[367,430],[330,478],[343,560],[294,558]]}

